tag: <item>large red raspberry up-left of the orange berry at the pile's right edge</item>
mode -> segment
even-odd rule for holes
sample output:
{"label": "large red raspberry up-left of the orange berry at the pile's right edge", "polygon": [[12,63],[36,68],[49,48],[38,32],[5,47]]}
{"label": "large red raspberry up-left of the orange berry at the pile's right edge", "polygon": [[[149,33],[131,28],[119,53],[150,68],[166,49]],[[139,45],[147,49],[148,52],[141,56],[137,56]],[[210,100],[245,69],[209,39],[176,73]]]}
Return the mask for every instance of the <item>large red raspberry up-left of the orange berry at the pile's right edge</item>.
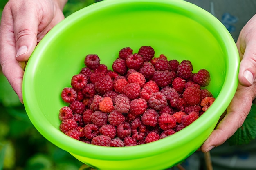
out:
{"label": "large red raspberry up-left of the orange berry at the pile's right edge", "polygon": [[184,100],[189,105],[197,105],[201,99],[201,91],[195,87],[186,88],[182,94]]}

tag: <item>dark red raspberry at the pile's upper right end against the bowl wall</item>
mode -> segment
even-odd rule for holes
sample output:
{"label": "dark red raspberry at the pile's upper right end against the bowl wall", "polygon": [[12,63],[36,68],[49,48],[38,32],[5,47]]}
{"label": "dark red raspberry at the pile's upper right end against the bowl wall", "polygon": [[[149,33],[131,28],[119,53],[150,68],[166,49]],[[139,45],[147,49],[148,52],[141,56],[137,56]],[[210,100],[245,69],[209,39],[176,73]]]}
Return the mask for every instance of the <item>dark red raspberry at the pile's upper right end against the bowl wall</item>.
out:
{"label": "dark red raspberry at the pile's upper right end against the bowl wall", "polygon": [[211,81],[209,71],[206,69],[199,70],[198,73],[193,75],[193,81],[199,84],[201,87],[208,86]]}

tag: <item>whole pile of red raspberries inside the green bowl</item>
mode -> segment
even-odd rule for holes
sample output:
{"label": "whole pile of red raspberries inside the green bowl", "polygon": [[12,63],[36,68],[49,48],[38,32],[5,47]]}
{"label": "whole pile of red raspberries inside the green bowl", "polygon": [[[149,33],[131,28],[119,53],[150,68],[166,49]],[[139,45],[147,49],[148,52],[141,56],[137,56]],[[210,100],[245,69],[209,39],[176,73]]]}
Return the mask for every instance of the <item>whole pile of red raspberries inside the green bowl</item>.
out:
{"label": "whole pile of red raspberries inside the green bowl", "polygon": [[189,60],[155,57],[151,46],[119,51],[112,69],[96,54],[61,92],[60,130],[99,146],[135,146],[172,135],[200,117],[215,98],[206,69]]}

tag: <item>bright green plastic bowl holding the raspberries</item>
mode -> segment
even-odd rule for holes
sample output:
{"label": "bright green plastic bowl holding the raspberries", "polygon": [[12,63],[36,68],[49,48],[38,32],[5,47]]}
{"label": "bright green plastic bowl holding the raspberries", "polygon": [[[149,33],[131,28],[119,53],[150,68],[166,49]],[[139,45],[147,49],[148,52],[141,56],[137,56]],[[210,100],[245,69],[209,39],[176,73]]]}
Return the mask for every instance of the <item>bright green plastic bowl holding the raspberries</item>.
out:
{"label": "bright green plastic bowl holding the raspberries", "polygon": [[[103,147],[86,144],[59,130],[60,94],[98,54],[112,68],[118,51],[152,46],[155,57],[190,60],[193,72],[211,74],[213,105],[187,128],[148,144]],[[239,56],[227,29],[213,15],[183,0],[105,0],[56,25],[34,50],[23,79],[24,105],[36,129],[81,162],[100,170],[163,170],[175,166],[209,137],[238,85]]]}

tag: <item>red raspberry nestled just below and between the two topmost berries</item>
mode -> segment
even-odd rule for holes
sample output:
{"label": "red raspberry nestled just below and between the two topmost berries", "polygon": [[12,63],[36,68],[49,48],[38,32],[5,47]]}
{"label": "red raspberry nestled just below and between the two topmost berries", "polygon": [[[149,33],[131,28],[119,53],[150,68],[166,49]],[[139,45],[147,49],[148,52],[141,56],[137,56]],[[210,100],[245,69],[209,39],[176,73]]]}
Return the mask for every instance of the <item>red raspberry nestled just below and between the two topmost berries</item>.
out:
{"label": "red raspberry nestled just below and between the two topmost berries", "polygon": [[129,69],[135,69],[136,71],[138,71],[143,66],[143,62],[144,62],[141,55],[137,53],[128,55],[125,61],[126,61],[126,66]]}

